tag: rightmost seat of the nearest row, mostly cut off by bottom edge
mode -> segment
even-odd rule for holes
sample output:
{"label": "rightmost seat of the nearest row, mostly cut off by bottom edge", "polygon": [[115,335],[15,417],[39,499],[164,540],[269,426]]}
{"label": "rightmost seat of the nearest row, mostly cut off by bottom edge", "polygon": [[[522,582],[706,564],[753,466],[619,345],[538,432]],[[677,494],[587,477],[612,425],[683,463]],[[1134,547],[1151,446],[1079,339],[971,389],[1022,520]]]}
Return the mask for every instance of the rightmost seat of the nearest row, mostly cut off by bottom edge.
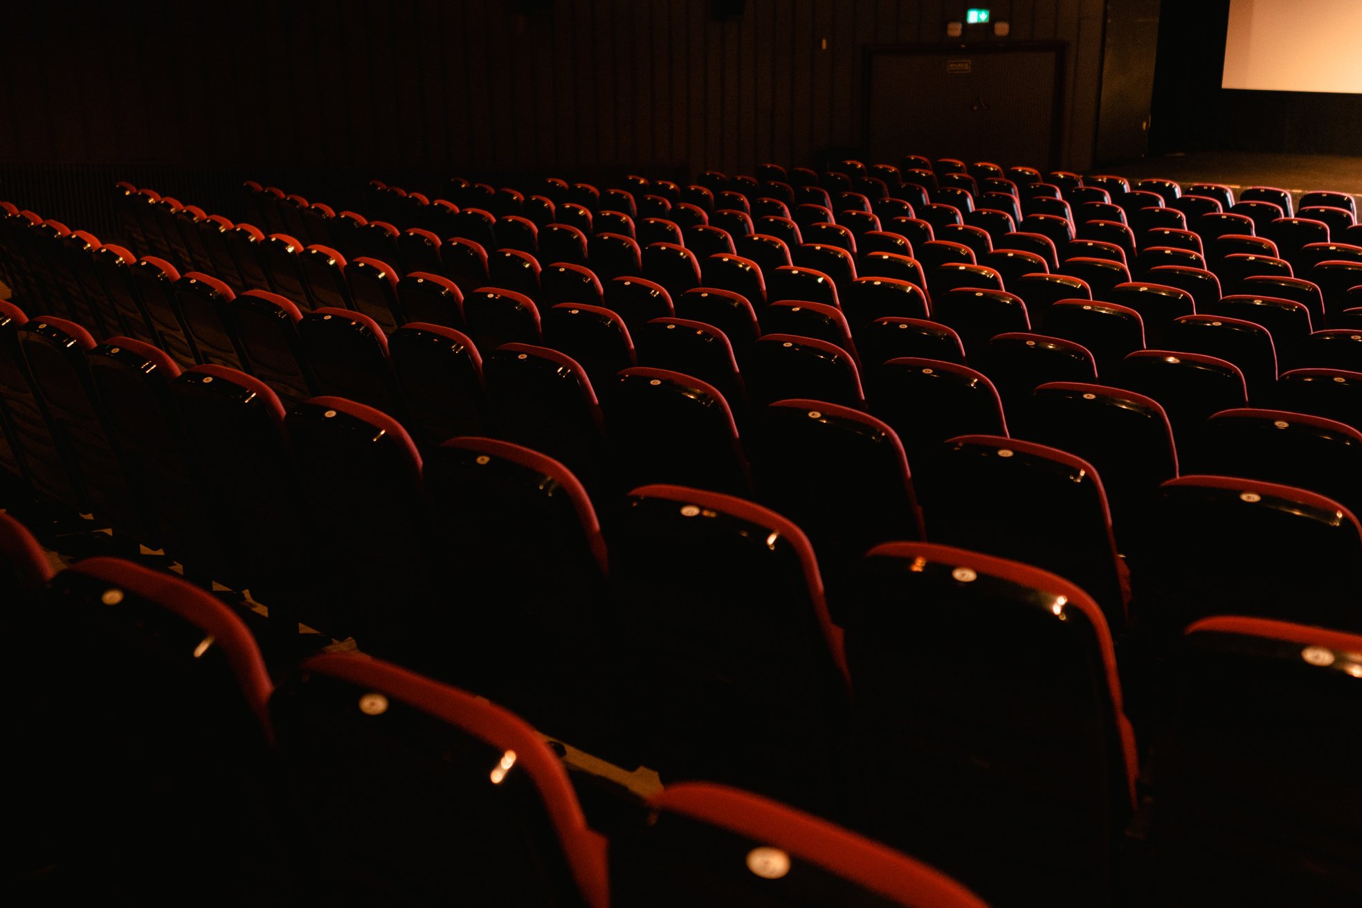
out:
{"label": "rightmost seat of the nearest row, mostly cut off by bottom edge", "polygon": [[610,843],[620,908],[825,904],[982,908],[936,870],[839,826],[735,788],[669,785],[650,822]]}

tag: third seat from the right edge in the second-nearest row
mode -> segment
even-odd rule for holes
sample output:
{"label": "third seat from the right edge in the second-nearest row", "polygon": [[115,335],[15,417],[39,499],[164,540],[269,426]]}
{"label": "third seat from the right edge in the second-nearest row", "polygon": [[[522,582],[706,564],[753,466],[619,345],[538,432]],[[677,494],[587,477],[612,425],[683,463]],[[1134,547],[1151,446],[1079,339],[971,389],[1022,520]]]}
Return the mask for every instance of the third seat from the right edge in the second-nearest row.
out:
{"label": "third seat from the right edge in the second-nearest row", "polygon": [[646,765],[839,809],[847,717],[840,630],[808,538],[741,498],[629,493],[610,549],[637,652]]}

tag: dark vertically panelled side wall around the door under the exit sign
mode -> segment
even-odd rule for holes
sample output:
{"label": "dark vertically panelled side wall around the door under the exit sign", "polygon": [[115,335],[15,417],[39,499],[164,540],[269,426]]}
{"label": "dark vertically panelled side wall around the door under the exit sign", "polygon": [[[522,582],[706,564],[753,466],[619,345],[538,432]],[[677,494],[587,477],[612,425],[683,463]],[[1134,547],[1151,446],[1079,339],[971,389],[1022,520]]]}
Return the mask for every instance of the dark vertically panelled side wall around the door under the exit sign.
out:
{"label": "dark vertically panelled side wall around the door under the exit sign", "polygon": [[[947,41],[966,5],[748,0],[719,20],[711,0],[15,3],[0,196],[60,215],[97,173],[210,208],[244,177],[343,204],[370,177],[817,163],[861,143],[865,45]],[[1061,161],[1087,167],[1103,0],[990,5],[1009,41],[1069,44]]]}

